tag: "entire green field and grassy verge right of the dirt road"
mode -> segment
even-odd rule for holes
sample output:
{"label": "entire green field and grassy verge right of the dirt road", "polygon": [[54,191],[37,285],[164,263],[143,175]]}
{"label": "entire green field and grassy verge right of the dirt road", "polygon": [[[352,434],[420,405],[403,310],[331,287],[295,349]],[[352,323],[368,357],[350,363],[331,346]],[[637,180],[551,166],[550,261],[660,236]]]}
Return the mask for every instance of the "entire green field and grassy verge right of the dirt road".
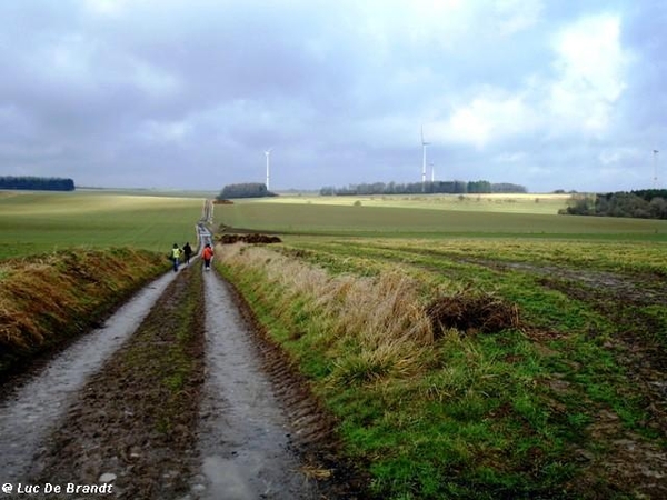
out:
{"label": "entire green field and grassy verge right of the dirt road", "polygon": [[355,201],[219,207],[283,242],[218,264],[378,498],[667,497],[666,221]]}

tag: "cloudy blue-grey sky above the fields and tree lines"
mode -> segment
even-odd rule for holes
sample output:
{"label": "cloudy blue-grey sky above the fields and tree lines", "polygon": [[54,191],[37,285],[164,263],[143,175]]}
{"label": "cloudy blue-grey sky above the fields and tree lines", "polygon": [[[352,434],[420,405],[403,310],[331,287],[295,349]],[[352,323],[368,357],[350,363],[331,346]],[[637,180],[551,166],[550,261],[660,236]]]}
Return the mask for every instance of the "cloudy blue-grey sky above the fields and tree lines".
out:
{"label": "cloudy blue-grey sky above the fields and tree lines", "polygon": [[[0,176],[667,188],[664,0],[2,0]],[[422,142],[428,142],[426,148]],[[664,150],[664,152],[663,152]],[[657,152],[654,152],[657,151]]]}

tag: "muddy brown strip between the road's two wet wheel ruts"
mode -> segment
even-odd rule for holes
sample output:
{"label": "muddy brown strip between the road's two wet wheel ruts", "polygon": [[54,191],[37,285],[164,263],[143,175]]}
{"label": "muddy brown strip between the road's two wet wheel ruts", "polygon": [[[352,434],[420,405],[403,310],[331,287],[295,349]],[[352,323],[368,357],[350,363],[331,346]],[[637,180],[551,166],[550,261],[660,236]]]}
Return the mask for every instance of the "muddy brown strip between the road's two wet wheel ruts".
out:
{"label": "muddy brown strip between the road's two wet wheel ruts", "polygon": [[[190,274],[191,269],[183,271],[167,288],[129,341],[88,380],[37,457],[33,482],[76,478],[94,484],[107,473],[116,477],[117,498],[175,498],[187,491],[203,373],[202,292]],[[193,314],[182,324],[180,303],[188,293]],[[182,342],[179,323],[188,329]],[[175,369],[179,356],[170,351],[176,349],[192,366]],[[181,372],[185,380],[176,388],[170,378]]]}

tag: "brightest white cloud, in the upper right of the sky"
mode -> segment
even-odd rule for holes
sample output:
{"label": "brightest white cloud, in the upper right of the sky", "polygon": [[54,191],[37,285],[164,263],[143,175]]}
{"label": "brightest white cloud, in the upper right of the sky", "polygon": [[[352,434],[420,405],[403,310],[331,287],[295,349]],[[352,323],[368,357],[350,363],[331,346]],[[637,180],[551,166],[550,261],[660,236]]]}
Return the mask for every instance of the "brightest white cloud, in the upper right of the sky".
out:
{"label": "brightest white cloud, in the upper right of the sky", "polygon": [[479,149],[535,133],[600,137],[626,86],[629,54],[620,43],[618,16],[577,20],[555,37],[554,54],[550,78],[535,71],[519,88],[484,87],[455,106],[438,126],[441,137]]}

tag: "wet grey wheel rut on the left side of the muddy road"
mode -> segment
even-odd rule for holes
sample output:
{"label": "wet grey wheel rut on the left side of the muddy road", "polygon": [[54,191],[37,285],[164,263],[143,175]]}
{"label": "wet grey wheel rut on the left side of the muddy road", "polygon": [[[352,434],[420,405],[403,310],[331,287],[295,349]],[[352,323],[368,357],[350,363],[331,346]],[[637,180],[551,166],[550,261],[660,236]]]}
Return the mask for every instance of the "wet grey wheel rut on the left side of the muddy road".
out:
{"label": "wet grey wheel rut on the left side of the muddy road", "polygon": [[70,398],[135,332],[175,276],[166,273],[145,287],[102,328],[81,337],[0,401],[1,483],[23,480],[42,438],[66,411]]}

